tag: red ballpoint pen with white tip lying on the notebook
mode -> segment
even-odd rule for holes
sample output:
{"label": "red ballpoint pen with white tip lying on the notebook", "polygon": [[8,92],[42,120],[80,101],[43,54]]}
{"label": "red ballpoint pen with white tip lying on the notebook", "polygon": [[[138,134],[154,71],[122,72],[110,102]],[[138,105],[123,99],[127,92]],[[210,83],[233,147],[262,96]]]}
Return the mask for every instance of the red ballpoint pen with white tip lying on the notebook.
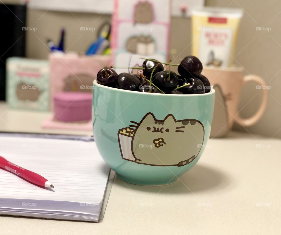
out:
{"label": "red ballpoint pen with white tip lying on the notebook", "polygon": [[16,164],[13,164],[9,161],[7,161],[4,157],[0,156],[0,168],[10,171],[13,174],[31,182],[41,187],[46,188],[54,188],[52,183],[50,183],[47,179],[45,179],[43,176],[40,176],[36,174],[35,172],[29,171],[27,169],[24,169],[22,167],[17,166]]}

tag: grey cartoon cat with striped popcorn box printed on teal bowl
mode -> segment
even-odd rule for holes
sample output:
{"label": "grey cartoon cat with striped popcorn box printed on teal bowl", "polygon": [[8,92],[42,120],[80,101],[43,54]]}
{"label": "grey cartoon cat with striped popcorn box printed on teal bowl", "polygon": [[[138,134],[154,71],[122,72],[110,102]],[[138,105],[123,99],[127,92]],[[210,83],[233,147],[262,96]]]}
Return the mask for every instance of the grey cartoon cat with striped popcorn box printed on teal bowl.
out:
{"label": "grey cartoon cat with striped popcorn box printed on teal bowl", "polygon": [[147,113],[131,123],[118,131],[121,156],[128,161],[181,167],[192,162],[203,145],[204,126],[196,119],[176,120],[168,114],[158,120]]}

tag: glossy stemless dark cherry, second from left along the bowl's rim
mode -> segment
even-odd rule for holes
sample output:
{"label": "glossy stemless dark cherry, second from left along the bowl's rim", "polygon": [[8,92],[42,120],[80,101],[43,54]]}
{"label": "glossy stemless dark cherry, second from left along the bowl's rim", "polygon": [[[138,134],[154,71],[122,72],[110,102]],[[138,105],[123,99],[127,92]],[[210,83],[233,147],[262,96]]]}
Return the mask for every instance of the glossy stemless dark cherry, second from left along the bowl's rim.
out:
{"label": "glossy stemless dark cherry, second from left along the bowl's rim", "polygon": [[115,81],[116,88],[123,90],[140,90],[140,80],[129,73],[120,73]]}

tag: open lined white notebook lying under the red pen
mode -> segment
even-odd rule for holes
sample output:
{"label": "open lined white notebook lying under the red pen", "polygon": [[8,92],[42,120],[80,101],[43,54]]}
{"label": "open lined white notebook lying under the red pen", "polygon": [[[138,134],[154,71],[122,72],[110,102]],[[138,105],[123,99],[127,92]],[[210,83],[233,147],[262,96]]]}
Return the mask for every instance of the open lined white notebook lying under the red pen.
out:
{"label": "open lined white notebook lying under the red pen", "polygon": [[94,141],[12,136],[0,136],[0,155],[42,175],[54,189],[0,169],[0,214],[99,220],[110,169]]}

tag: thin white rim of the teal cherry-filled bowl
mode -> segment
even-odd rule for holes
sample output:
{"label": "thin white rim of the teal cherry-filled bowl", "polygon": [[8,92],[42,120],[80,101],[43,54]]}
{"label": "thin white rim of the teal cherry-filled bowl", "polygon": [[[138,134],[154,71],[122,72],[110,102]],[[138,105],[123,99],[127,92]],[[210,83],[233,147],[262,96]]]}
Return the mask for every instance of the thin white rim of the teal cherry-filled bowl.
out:
{"label": "thin white rim of the teal cherry-filled bowl", "polygon": [[156,96],[170,96],[170,97],[194,97],[194,96],[208,96],[208,95],[213,95],[215,93],[215,89],[211,88],[210,92],[208,93],[204,93],[204,94],[162,94],[162,93],[149,93],[149,92],[137,92],[137,91],[131,91],[131,90],[123,90],[123,89],[118,89],[118,88],[113,88],[113,87],[107,87],[101,84],[97,83],[97,80],[95,79],[93,81],[93,90],[94,86],[103,88],[103,89],[107,89],[107,90],[115,90],[115,91],[119,91],[119,92],[125,92],[125,93],[133,93],[133,94],[137,94],[137,95],[156,95]]}

